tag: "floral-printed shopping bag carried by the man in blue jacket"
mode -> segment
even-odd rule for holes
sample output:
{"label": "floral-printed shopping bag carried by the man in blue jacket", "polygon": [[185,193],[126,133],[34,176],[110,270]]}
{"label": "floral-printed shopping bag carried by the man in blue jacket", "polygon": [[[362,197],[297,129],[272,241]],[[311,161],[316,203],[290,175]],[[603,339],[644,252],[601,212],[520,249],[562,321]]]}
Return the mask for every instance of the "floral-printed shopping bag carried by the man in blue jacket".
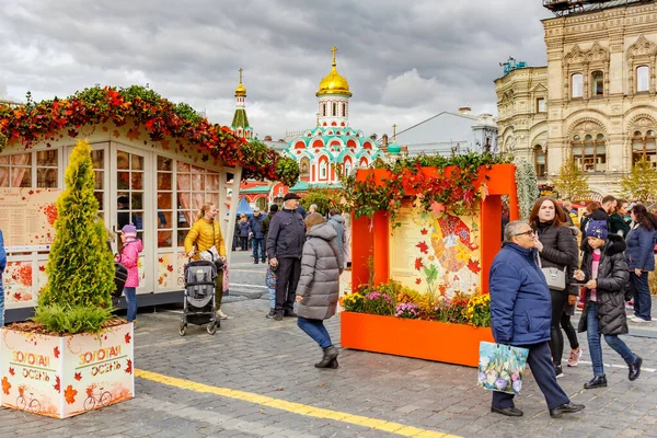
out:
{"label": "floral-printed shopping bag carried by the man in blue jacket", "polygon": [[488,342],[480,343],[477,387],[520,394],[529,349]]}

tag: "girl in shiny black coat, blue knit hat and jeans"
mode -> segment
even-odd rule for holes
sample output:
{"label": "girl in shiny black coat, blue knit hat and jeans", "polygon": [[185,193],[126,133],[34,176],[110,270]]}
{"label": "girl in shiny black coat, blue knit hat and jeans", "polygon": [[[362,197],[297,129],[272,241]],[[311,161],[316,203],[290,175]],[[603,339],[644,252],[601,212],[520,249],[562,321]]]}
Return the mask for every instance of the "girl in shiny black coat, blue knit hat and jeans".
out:
{"label": "girl in shiny black coat, blue knit hat and jeans", "polygon": [[608,233],[604,220],[591,220],[587,232],[581,270],[575,273],[575,278],[587,281],[578,328],[579,332],[587,332],[593,365],[593,378],[584,384],[588,390],[607,387],[600,334],[604,335],[607,344],[630,367],[630,380],[638,378],[643,360],[619,338],[619,335],[627,333],[624,299],[627,264],[623,255],[625,242],[620,235]]}

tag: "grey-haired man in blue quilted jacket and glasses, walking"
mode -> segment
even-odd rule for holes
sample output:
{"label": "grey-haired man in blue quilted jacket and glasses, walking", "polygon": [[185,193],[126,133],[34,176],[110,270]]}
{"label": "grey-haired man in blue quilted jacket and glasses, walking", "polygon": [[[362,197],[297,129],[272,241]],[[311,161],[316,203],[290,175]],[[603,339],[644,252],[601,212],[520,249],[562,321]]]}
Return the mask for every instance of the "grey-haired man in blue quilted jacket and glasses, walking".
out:
{"label": "grey-haired man in blue quilted jacket and glasses, walking", "polygon": [[[491,266],[491,326],[498,344],[529,349],[527,362],[543,392],[550,416],[584,410],[570,403],[556,382],[550,353],[552,300],[545,277],[537,263],[537,237],[526,221],[509,222],[504,229],[504,245]],[[519,417],[514,394],[493,392],[491,411]]]}

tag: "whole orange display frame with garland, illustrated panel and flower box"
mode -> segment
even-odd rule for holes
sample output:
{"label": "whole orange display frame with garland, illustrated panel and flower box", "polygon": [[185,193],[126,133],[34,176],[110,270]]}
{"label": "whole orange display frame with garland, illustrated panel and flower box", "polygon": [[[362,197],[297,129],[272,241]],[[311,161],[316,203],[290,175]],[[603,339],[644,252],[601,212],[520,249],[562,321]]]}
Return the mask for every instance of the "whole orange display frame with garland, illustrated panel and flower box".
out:
{"label": "whole orange display frame with garland, illustrated panel and flower box", "polygon": [[503,196],[518,219],[516,166],[489,154],[419,157],[346,178],[351,293],[342,345],[476,366],[489,328],[488,272]]}

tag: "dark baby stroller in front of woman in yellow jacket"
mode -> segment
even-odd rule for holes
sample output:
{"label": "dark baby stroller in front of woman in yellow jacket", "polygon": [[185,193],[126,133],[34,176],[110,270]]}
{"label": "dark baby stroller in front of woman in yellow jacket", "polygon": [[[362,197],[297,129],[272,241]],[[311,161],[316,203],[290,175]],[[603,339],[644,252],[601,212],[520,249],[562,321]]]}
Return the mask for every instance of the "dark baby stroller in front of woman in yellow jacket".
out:
{"label": "dark baby stroller in front of woman in yellow jacket", "polygon": [[178,334],[185,336],[187,324],[204,325],[209,334],[217,333],[221,325],[217,318],[215,299],[215,281],[223,268],[223,262],[216,260],[189,261],[185,267],[185,298],[183,302],[183,319]]}

